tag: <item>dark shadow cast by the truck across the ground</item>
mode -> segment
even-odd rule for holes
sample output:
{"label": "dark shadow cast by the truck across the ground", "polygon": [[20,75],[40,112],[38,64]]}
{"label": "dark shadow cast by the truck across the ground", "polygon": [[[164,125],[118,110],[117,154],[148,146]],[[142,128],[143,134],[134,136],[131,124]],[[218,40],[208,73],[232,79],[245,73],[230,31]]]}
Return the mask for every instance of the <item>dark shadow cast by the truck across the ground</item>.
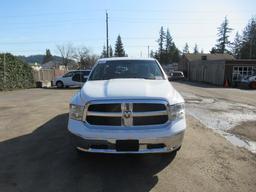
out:
{"label": "dark shadow cast by the truck across the ground", "polygon": [[0,142],[0,191],[150,191],[175,154],[78,156],[67,114]]}

